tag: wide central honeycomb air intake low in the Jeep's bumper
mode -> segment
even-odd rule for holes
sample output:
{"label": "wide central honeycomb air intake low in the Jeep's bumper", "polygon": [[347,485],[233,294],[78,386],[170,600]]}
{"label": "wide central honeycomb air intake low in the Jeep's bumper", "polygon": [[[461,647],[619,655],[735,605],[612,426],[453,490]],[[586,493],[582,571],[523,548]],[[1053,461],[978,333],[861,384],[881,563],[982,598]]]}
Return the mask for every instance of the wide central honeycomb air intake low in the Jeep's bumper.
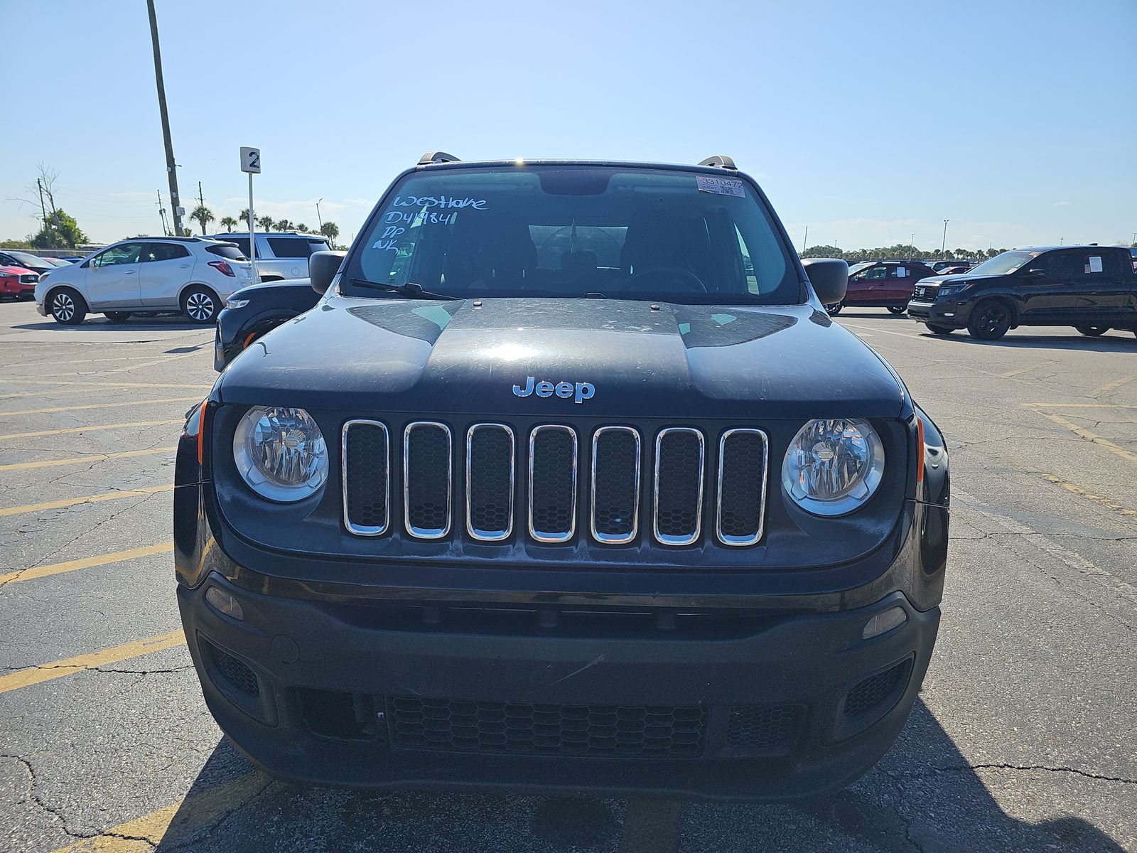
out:
{"label": "wide central honeycomb air intake low in the Jeep's bumper", "polygon": [[391,743],[406,748],[682,757],[703,748],[705,713],[686,707],[512,705],[396,697]]}

